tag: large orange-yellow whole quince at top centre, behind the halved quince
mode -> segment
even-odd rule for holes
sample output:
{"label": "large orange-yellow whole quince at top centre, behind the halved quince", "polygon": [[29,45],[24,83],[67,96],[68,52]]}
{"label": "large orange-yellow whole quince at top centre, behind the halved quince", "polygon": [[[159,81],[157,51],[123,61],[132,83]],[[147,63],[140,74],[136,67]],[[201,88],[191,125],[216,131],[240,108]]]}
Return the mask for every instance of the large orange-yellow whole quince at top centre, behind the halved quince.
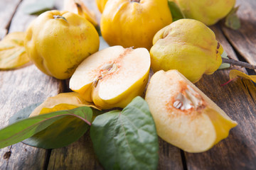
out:
{"label": "large orange-yellow whole quince at top centre, behind the halved quince", "polygon": [[102,37],[109,45],[152,46],[154,34],[172,22],[165,0],[109,0],[100,21]]}

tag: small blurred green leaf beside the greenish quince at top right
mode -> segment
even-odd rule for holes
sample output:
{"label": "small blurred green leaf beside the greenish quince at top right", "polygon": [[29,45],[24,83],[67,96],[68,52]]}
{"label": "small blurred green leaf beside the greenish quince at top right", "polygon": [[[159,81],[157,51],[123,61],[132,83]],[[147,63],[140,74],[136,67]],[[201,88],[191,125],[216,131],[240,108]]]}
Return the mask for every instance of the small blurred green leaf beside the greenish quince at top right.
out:
{"label": "small blurred green leaf beside the greenish quince at top right", "polygon": [[237,15],[239,6],[233,8],[225,17],[225,26],[233,30],[238,30],[241,27],[240,20]]}

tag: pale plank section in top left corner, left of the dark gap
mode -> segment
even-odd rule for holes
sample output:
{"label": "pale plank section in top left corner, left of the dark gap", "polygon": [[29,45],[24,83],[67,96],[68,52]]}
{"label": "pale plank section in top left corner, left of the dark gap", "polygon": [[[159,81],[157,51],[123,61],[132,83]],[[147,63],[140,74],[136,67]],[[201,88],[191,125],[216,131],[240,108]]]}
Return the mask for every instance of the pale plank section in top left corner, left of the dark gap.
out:
{"label": "pale plank section in top left corner, left of the dark gap", "polygon": [[7,27],[14,16],[16,8],[21,0],[1,0],[0,1],[0,40],[7,33]]}

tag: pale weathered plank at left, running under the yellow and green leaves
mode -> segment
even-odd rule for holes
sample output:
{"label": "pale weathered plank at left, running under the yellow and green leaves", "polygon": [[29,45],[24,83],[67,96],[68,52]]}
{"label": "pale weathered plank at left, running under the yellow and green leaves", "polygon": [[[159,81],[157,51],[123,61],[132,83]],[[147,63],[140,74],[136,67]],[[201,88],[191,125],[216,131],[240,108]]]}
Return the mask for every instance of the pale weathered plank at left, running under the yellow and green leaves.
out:
{"label": "pale weathered plank at left, running under the yellow and green leaves", "polygon": [[[23,6],[35,0],[23,0],[11,21],[9,32],[25,31],[36,16],[23,13]],[[7,2],[6,2],[7,3]],[[7,4],[10,2],[8,1]],[[0,128],[21,108],[44,101],[62,91],[63,83],[40,72],[31,64],[21,69],[0,72]],[[6,157],[9,155],[9,157]],[[45,169],[48,151],[23,143],[0,149],[0,169]]]}

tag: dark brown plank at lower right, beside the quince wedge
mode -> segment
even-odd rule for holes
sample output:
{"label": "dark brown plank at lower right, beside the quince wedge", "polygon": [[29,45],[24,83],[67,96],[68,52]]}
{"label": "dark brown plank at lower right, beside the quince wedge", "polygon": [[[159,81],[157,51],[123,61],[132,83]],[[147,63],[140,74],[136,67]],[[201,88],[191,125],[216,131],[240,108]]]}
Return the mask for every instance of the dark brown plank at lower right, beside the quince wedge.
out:
{"label": "dark brown plank at lower right, beside the quince wedge", "polygon": [[[213,30],[225,51],[236,58],[220,30],[214,27]],[[196,85],[230,118],[236,120],[238,126],[230,131],[228,138],[208,152],[185,153],[188,169],[255,169],[256,167],[256,87],[251,81],[240,79],[226,86],[220,86],[228,81],[228,73],[229,70],[219,70],[212,75],[205,75]],[[253,95],[250,95],[249,91]]]}

